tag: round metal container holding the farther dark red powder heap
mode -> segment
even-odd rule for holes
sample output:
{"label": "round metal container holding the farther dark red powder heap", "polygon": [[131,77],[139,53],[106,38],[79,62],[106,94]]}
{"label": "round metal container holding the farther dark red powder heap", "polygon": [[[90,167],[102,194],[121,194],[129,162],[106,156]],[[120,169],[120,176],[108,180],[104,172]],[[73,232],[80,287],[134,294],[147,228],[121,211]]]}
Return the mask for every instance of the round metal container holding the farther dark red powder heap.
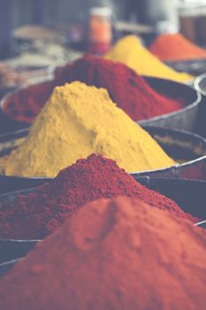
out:
{"label": "round metal container holding the farther dark red powder heap", "polygon": [[[149,86],[152,89],[155,89],[157,93],[164,95],[164,97],[183,100],[186,102],[186,105],[177,112],[167,113],[148,120],[140,120],[139,123],[141,125],[179,128],[195,132],[198,108],[202,101],[201,94],[195,89],[192,89],[190,86],[175,81],[158,79],[154,77],[144,78],[149,83]],[[55,85],[55,83],[53,85]],[[19,128],[27,128],[30,126],[29,123],[12,119],[11,116],[5,112],[6,105],[11,105],[13,102],[18,102],[19,100],[22,101],[22,97],[25,97],[25,101],[34,101],[34,92],[31,92],[31,95],[29,95],[30,89],[31,86],[28,86],[25,89],[19,89],[13,94],[4,97],[0,102],[0,108],[3,114],[0,121],[0,124],[3,124],[0,127],[1,133],[11,132],[13,130],[18,130]],[[50,91],[45,96],[45,101],[49,97]]]}

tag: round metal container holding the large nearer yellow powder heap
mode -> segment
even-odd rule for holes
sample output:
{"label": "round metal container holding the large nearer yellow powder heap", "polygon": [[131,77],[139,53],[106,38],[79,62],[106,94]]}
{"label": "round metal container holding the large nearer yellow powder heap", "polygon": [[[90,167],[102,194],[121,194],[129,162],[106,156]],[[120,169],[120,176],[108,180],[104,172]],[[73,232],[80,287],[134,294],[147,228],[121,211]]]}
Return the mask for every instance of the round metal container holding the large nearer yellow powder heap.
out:
{"label": "round metal container holding the large nearer yellow powder heap", "polygon": [[[134,177],[149,175],[153,177],[167,177],[180,179],[206,180],[206,139],[185,131],[144,127],[159,143],[164,151],[175,159],[184,163],[176,164],[158,170],[131,173]],[[27,136],[28,129],[0,136],[0,157],[8,155],[22,143]],[[138,156],[138,154],[137,154]],[[49,182],[51,178],[18,177],[0,175],[0,193],[13,190],[25,190]]]}

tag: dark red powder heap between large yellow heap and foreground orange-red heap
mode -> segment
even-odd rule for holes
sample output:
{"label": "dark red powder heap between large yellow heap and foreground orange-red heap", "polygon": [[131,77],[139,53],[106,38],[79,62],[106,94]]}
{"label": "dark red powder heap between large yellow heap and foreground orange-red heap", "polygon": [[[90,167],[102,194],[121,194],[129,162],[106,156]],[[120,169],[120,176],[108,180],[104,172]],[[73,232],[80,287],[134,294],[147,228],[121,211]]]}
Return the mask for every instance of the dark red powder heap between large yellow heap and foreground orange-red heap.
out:
{"label": "dark red powder heap between large yellow heap and foreground orange-red heap", "polygon": [[141,186],[115,161],[92,154],[62,170],[53,181],[34,193],[19,196],[16,203],[1,205],[0,236],[41,239],[57,229],[81,205],[118,195],[141,198],[172,215],[196,221],[171,199]]}

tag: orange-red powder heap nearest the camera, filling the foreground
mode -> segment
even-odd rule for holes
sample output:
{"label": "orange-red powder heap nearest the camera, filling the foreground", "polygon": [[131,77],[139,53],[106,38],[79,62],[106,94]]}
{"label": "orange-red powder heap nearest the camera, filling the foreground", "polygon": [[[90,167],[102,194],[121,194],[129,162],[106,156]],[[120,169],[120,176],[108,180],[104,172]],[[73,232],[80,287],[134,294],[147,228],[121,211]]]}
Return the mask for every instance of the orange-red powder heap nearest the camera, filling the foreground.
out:
{"label": "orange-red powder heap nearest the camera, filling the foreground", "polygon": [[102,199],[1,279],[0,308],[196,310],[205,308],[205,291],[202,229],[141,200]]}

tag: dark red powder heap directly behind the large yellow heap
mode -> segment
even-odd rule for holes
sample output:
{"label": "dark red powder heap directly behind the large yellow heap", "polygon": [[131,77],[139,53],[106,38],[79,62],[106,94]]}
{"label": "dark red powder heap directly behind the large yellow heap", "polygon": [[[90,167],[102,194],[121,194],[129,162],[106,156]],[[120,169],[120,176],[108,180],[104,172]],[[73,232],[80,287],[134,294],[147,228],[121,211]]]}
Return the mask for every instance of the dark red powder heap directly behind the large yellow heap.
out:
{"label": "dark red powder heap directly behind the large yellow heap", "polygon": [[179,110],[184,100],[164,97],[127,66],[111,60],[85,56],[56,70],[56,79],[22,91],[4,105],[4,111],[15,120],[32,123],[55,86],[83,81],[108,90],[111,99],[133,120],[143,120]]}

